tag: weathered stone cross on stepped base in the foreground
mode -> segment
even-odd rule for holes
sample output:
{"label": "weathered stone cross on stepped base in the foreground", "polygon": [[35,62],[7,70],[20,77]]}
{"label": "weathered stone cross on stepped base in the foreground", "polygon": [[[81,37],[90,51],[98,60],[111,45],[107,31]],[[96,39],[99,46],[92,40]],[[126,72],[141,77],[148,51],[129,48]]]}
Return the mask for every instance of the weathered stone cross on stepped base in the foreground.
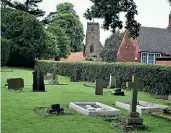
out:
{"label": "weathered stone cross on stepped base in the foreground", "polygon": [[136,111],[137,109],[137,97],[138,97],[138,88],[139,88],[139,80],[132,76],[132,96],[130,101],[130,113],[129,117],[126,119],[127,126],[131,126],[134,129],[144,128],[143,119],[139,117],[139,113]]}

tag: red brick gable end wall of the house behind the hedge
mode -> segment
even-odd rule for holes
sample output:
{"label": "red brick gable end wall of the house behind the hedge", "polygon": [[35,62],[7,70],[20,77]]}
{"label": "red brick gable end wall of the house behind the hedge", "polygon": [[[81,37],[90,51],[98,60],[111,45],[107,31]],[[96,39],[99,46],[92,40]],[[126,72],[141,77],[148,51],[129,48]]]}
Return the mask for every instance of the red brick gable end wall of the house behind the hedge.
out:
{"label": "red brick gable end wall of the house behind the hedge", "polygon": [[128,38],[128,35],[125,32],[118,49],[117,60],[121,62],[136,62],[135,59],[137,59],[138,62],[141,61],[138,42],[137,40]]}

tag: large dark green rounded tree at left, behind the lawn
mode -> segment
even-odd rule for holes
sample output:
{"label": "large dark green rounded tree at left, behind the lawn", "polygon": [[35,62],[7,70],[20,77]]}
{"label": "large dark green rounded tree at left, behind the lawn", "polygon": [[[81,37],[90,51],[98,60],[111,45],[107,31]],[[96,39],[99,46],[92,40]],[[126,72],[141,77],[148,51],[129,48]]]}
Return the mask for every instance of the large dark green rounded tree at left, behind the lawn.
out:
{"label": "large dark green rounded tree at left, behind the lawn", "polygon": [[2,37],[12,41],[9,63],[32,67],[34,58],[45,53],[43,26],[32,15],[12,9],[2,9]]}

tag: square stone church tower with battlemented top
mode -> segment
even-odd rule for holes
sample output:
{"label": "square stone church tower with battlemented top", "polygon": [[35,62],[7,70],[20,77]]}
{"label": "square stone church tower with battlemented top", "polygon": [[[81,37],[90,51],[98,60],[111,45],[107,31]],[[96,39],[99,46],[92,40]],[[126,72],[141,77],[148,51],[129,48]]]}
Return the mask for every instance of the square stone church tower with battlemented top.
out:
{"label": "square stone church tower with battlemented top", "polygon": [[86,44],[84,55],[86,57],[100,58],[102,45],[100,43],[100,27],[98,23],[87,23]]}

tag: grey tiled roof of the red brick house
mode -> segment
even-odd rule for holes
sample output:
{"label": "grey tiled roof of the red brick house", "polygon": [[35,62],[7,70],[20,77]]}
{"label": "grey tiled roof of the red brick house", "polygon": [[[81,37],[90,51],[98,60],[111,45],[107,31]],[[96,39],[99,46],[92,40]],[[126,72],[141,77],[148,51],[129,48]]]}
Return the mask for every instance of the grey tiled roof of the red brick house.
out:
{"label": "grey tiled roof of the red brick house", "polygon": [[140,52],[171,53],[171,29],[141,27],[137,41]]}

